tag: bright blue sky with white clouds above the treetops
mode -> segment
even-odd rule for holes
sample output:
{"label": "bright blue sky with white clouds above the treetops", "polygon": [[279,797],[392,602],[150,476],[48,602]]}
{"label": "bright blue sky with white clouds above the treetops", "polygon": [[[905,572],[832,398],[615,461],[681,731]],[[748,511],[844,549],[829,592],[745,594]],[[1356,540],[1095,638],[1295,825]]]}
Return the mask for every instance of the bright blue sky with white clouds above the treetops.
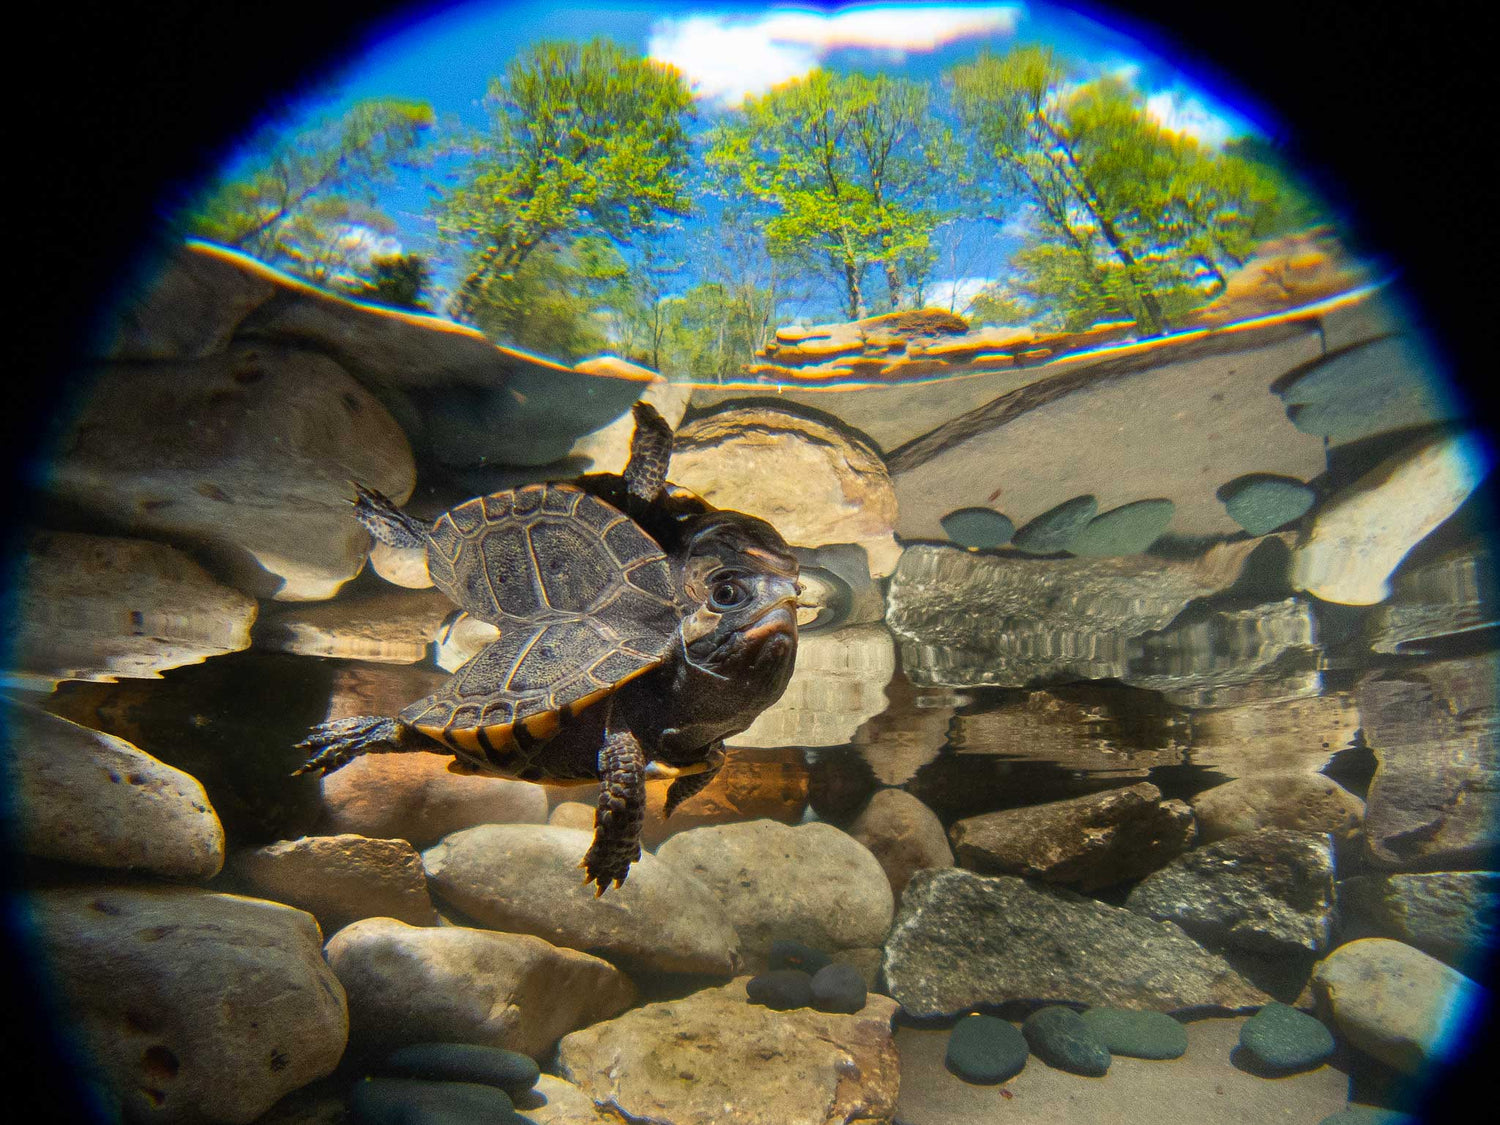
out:
{"label": "bright blue sky with white clouds above the treetops", "polygon": [[[890,70],[936,80],[981,48],[1012,42],[1050,44],[1098,72],[1114,72],[1146,94],[1164,124],[1210,142],[1246,132],[1269,132],[1244,96],[1215,94],[1164,57],[1090,14],[1040,3],[999,4],[850,4],[768,6],[712,3],[597,3],[590,6],[522,0],[470,0],[414,4],[356,45],[345,63],[314,88],[321,96],[282,106],[288,117],[338,111],[364,98],[405,98],[432,105],[446,117],[480,129],[484,94],[506,63],[537,39],[609,36],[642,54],[678,66],[698,94],[700,122],[732,108],[744,93],[814,66]],[[1162,39],[1166,42],[1166,39]],[[380,206],[398,224],[382,249],[434,255],[426,176],[404,176],[384,189]],[[999,252],[999,250],[996,250]],[[447,280],[440,272],[440,284]],[[940,279],[954,282],[957,279]]]}

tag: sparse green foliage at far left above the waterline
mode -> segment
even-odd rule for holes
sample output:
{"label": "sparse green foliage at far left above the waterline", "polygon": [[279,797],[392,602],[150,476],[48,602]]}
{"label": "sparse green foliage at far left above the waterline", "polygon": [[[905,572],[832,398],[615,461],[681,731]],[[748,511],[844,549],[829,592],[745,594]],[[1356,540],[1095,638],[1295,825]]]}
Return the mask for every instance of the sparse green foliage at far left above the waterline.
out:
{"label": "sparse green foliage at far left above the waterline", "polygon": [[267,128],[180,222],[315,284],[346,279],[369,260],[370,236],[394,230],[375,189],[418,162],[432,123],[428,105],[372,99],[300,132]]}

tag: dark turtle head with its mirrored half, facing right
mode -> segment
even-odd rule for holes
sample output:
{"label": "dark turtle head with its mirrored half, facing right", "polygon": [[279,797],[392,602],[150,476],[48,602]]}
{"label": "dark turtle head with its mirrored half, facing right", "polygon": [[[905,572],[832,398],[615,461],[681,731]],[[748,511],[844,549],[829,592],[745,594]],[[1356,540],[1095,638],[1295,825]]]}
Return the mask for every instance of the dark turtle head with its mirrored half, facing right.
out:
{"label": "dark turtle head with its mirrored half, facing right", "polygon": [[[770,705],[796,658],[796,556],[764,519],[711,512],[680,556],[682,650],[696,669],[736,681]],[[766,698],[768,696],[768,698]]]}

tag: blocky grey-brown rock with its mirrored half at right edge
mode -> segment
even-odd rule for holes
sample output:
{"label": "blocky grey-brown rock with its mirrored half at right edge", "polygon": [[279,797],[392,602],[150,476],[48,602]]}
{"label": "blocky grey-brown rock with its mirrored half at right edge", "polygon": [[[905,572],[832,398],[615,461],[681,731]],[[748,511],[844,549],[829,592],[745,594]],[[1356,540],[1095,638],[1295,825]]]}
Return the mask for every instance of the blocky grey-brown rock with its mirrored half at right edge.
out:
{"label": "blocky grey-brown rock with its mirrored half at right edge", "polygon": [[1378,766],[1370,855],[1388,870],[1485,867],[1500,844],[1500,656],[1371,672],[1356,698]]}

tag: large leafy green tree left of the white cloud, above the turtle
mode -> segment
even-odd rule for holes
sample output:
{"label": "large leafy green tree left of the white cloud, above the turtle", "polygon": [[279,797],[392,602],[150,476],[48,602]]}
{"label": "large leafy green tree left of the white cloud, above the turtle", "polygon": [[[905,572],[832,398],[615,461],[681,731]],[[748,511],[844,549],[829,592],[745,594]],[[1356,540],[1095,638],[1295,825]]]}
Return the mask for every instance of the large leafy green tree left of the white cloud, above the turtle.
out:
{"label": "large leafy green tree left of the white cloud, above the turtle", "polygon": [[620,243],[684,214],[692,93],[672,68],[608,39],[540,42],[490,82],[490,128],[438,225],[470,252],[454,314],[579,234]]}

